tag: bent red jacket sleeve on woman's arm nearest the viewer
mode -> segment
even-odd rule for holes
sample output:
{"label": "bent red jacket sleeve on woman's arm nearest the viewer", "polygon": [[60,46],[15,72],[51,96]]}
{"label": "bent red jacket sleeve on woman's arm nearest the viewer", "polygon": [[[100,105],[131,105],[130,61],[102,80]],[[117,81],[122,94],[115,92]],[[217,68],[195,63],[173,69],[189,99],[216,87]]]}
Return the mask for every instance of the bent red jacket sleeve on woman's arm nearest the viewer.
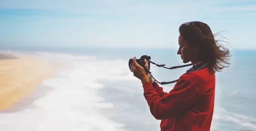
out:
{"label": "bent red jacket sleeve on woman's arm nearest the viewer", "polygon": [[189,81],[185,80],[177,81],[176,86],[163,98],[160,97],[150,82],[143,84],[143,90],[150,112],[157,120],[177,116],[192,105],[197,98],[196,90]]}

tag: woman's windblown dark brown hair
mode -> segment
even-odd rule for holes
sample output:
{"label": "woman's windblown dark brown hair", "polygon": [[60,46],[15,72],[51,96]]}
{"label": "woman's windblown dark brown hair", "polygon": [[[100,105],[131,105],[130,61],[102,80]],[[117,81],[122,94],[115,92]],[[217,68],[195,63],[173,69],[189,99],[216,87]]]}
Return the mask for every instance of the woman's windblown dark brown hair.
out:
{"label": "woman's windblown dark brown hair", "polygon": [[[220,34],[213,35],[207,24],[199,21],[186,22],[180,25],[179,32],[190,47],[199,47],[199,57],[201,61],[208,63],[209,71],[216,72],[229,67],[224,64],[230,64],[228,62],[231,57],[230,51],[219,43],[225,41],[216,40],[215,37]],[[222,36],[222,38],[225,37]]]}

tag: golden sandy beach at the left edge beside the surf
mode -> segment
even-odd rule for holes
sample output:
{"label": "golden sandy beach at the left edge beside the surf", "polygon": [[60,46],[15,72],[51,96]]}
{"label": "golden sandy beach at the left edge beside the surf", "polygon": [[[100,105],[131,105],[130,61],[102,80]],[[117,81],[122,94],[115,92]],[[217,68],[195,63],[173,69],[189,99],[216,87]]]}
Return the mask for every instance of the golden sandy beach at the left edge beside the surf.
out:
{"label": "golden sandy beach at the left edge beside the surf", "polygon": [[0,54],[0,111],[11,109],[53,77],[60,64],[32,56]]}

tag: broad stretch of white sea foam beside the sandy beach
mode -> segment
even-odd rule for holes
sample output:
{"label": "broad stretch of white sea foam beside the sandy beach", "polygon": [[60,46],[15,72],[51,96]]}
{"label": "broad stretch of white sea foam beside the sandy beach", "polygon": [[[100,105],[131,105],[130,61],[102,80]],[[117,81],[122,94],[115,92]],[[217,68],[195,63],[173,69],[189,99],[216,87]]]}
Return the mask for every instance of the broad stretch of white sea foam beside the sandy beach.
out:
{"label": "broad stretch of white sea foam beside the sandy beach", "polygon": [[[99,114],[97,108],[113,108],[113,104],[103,103],[104,99],[96,94],[98,89],[104,88],[104,85],[97,81],[100,78],[108,80],[133,79],[128,74],[119,76],[119,74],[125,73],[120,69],[115,70],[119,62],[95,61],[93,63],[78,61],[70,55],[38,54],[39,57],[57,58],[63,61],[72,59],[73,67],[59,71],[58,77],[43,81],[42,86],[50,86],[54,90],[49,92],[47,96],[35,100],[33,103],[35,108],[0,114],[1,130],[123,131],[123,124]],[[79,56],[79,59],[89,58]],[[113,67],[113,65],[116,66]]]}

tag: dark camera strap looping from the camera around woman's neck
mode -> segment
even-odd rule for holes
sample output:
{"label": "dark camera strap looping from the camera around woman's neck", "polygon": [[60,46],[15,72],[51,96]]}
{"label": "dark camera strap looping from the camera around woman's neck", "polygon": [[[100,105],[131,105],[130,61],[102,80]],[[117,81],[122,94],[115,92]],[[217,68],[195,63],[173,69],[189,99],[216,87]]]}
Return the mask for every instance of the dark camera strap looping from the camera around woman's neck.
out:
{"label": "dark camera strap looping from the camera around woman's neck", "polygon": [[[165,66],[165,64],[156,64],[156,63],[154,63],[154,62],[152,62],[152,61],[150,61],[150,60],[149,60],[149,62],[152,63],[152,64],[155,64],[157,67],[164,67],[164,66]],[[193,65],[193,64],[185,64],[185,65],[181,65],[181,66],[175,66],[175,67],[170,67],[170,68],[164,67],[164,68],[171,70],[171,69],[177,69],[177,68],[181,68],[181,67],[188,67],[188,66],[191,66],[191,65]],[[195,71],[195,70],[201,70],[201,69],[203,69],[204,67],[206,67],[207,65],[208,65],[208,63],[205,63],[205,64],[204,64],[204,63],[200,62],[200,63],[197,63],[197,64],[193,65],[192,67],[190,67],[188,70],[186,70],[186,72],[188,73],[188,72],[192,72],[192,71]],[[150,72],[145,66],[143,66],[143,67],[144,67],[144,69],[151,75],[151,72]],[[152,77],[155,81],[157,81],[152,75],[151,75],[151,77]],[[165,82],[165,81],[159,82],[159,81],[157,81],[157,83],[159,83],[159,84],[161,84],[161,85],[164,85],[164,84],[175,83],[175,82],[177,82],[177,81],[179,81],[179,79],[174,80],[174,81],[169,81],[169,82]]]}

